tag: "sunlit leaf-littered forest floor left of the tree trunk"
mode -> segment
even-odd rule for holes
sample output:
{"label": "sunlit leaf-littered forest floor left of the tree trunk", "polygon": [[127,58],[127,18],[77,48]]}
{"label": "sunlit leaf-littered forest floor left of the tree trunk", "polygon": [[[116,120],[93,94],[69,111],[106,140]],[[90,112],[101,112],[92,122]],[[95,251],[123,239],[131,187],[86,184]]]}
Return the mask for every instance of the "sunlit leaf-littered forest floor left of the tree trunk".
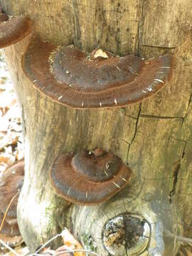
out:
{"label": "sunlit leaf-littered forest floor left of the tree trunk", "polygon": [[[23,158],[23,136],[21,112],[16,100],[9,70],[0,52],[0,177],[6,168]],[[14,255],[0,245],[0,255]],[[24,255],[28,248],[16,248],[18,255]]]}

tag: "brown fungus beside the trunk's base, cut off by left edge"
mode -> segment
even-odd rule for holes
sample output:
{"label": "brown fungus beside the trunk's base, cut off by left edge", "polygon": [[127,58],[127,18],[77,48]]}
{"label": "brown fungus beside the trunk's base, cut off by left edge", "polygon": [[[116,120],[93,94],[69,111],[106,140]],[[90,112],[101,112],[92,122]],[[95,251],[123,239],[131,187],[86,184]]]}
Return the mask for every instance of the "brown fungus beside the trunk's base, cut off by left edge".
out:
{"label": "brown fungus beside the trunk's base, cut off by left edge", "polygon": [[[0,178],[0,238],[10,246],[22,241],[16,219],[16,206],[23,185],[23,175],[24,161],[21,160],[6,169]],[[1,225],[2,221],[4,221],[3,225]]]}

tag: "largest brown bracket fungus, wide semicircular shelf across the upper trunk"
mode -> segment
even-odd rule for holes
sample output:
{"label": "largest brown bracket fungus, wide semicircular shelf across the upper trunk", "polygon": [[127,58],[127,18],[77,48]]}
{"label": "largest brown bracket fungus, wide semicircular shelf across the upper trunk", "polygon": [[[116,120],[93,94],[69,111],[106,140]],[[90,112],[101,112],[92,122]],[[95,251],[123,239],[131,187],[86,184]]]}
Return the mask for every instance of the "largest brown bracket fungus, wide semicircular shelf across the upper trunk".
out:
{"label": "largest brown bracket fungus, wide semicircular shelf across the upper trunk", "polygon": [[[73,46],[56,47],[33,38],[23,70],[37,90],[74,108],[122,107],[164,87],[172,58],[143,60],[134,55],[89,54]],[[92,58],[95,56],[95,58]]]}

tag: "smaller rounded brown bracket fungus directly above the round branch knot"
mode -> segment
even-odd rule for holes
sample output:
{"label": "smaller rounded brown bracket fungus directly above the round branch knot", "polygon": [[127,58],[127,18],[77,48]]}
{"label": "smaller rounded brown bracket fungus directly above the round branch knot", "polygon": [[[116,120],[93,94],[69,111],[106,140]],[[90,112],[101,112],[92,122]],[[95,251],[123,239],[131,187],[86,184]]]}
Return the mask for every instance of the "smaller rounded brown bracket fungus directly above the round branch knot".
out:
{"label": "smaller rounded brown bracket fungus directly above the round branch knot", "polygon": [[[101,153],[101,152],[100,152]],[[83,205],[106,201],[129,181],[128,166],[112,153],[62,154],[53,162],[50,181],[58,196]]]}

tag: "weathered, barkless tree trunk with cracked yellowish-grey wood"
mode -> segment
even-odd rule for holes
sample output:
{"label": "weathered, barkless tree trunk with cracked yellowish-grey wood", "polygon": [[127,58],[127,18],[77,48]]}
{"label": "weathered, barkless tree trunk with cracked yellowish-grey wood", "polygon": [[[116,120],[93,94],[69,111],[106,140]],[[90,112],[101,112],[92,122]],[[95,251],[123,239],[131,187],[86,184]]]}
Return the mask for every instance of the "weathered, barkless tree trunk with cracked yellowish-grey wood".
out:
{"label": "weathered, barkless tree trunk with cracked yellowish-grey wood", "polygon": [[[141,215],[151,226],[147,247],[151,255],[155,250],[176,255],[178,242],[174,246],[174,238],[163,240],[158,227],[163,224],[164,230],[176,235],[192,235],[191,0],[0,3],[6,14],[28,14],[35,33],[58,46],[73,43],[87,51],[100,46],[117,55],[133,53],[143,58],[174,54],[171,82],[148,100],[123,108],[75,110],[38,92],[23,73],[21,57],[31,36],[5,48],[25,134],[26,174],[18,224],[28,247],[35,250],[68,227],[82,245],[108,255],[103,244],[107,221],[115,223],[118,215],[130,217],[131,213]],[[96,206],[75,206],[58,197],[48,176],[55,157],[96,147],[112,151],[129,164],[132,177],[126,188]],[[175,195],[170,199],[173,188]],[[109,245],[110,253],[126,255],[127,250],[129,254],[127,242],[117,244],[121,250],[115,242]]]}

